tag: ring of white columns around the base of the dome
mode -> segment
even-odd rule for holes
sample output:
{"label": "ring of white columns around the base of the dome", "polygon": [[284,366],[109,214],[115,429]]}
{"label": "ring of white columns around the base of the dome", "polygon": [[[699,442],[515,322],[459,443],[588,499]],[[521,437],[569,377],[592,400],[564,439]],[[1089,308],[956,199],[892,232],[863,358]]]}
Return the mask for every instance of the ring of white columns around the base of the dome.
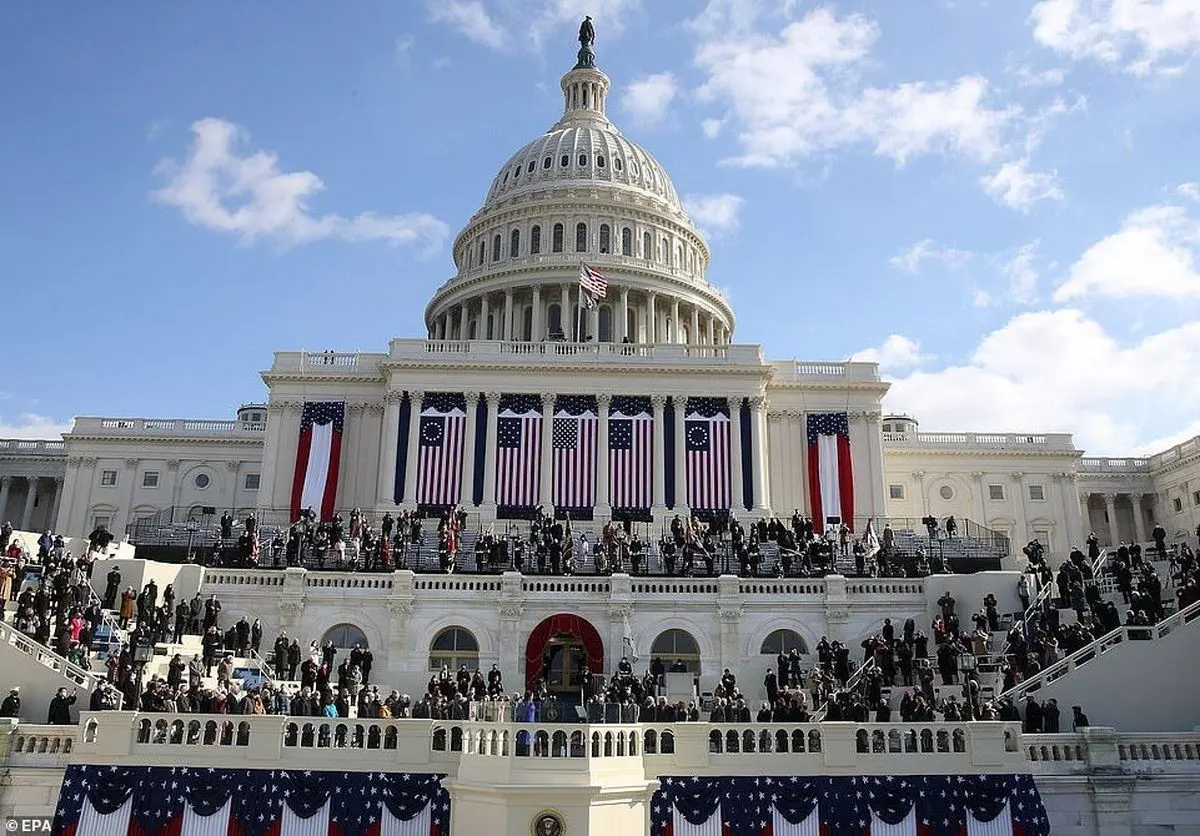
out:
{"label": "ring of white columns around the base of the dome", "polygon": [[[548,293],[542,299],[542,288]],[[670,307],[659,305],[658,294],[647,291],[644,297],[634,301],[635,332],[629,331],[630,299],[629,288],[620,288],[612,305],[612,330],[611,342],[620,343],[626,338],[631,342],[644,343],[680,343],[683,333],[682,305],[678,297],[672,296]],[[553,285],[535,284],[530,288],[533,315],[530,318],[530,342],[542,342],[550,336],[548,311],[550,305],[559,305],[559,326],[568,337],[576,330],[578,318],[580,291],[576,284],[565,282],[553,293]],[[450,339],[455,333],[457,324],[458,339],[468,339],[470,333],[472,312],[479,311],[479,319],[475,326],[476,339],[503,339],[520,341],[524,337],[524,317],[521,314],[524,300],[517,302],[514,289],[504,290],[504,313],[496,318],[492,325],[492,335],[487,335],[487,318],[492,314],[492,300],[490,294],[484,294],[475,299],[464,299],[456,306],[446,307],[442,314],[434,318],[430,329],[432,339]],[[457,312],[456,312],[457,311]],[[703,317],[701,315],[703,313]],[[521,315],[518,315],[521,314]],[[595,341],[600,335],[600,308],[593,307],[586,312],[587,325],[584,333],[590,335]],[[515,318],[516,317],[516,318]],[[698,305],[688,306],[688,335],[692,345],[716,345],[730,342],[730,330],[724,321],[702,311]],[[518,321],[520,320],[520,321]]]}

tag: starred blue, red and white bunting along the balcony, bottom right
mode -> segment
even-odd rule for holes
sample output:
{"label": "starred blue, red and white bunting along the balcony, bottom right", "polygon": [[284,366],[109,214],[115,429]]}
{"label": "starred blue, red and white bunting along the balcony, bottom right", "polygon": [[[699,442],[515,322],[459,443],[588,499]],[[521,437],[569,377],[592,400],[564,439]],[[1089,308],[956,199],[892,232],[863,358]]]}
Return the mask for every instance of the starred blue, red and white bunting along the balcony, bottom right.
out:
{"label": "starred blue, red and white bunting along the balcony, bottom right", "polygon": [[1048,836],[1031,775],[664,777],[652,836]]}

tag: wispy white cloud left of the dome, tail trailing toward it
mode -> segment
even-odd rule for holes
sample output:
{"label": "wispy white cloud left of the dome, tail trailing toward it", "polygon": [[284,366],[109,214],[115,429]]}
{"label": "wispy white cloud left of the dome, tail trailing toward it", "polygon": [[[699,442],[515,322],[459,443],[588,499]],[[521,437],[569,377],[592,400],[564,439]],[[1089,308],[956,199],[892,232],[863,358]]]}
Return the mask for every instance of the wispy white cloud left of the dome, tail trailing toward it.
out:
{"label": "wispy white cloud left of the dome, tail trailing toward it", "polygon": [[191,223],[233,233],[245,243],[272,239],[283,245],[326,237],[346,241],[383,240],[433,249],[449,234],[431,215],[377,215],[350,218],[313,215],[310,202],[324,184],[312,172],[282,172],[269,151],[239,152],[246,133],[223,119],[192,125],[193,143],[180,163],[164,160],[157,173],[167,185],[152,198],[175,206]]}

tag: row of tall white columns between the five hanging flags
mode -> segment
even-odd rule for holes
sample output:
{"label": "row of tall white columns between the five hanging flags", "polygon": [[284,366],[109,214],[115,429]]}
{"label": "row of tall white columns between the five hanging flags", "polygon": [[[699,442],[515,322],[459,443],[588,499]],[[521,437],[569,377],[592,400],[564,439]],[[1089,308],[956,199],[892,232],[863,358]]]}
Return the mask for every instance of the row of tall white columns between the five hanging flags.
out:
{"label": "row of tall white columns between the five hanging flags", "polygon": [[[420,445],[420,414],[425,401],[425,392],[409,391],[409,422],[408,422],[408,447],[404,461],[404,493],[401,504],[412,507],[416,505],[416,463]],[[484,445],[484,501],[486,510],[496,510],[496,434],[499,423],[499,392],[487,392],[484,395],[487,403],[486,440]],[[542,433],[541,450],[539,451],[539,504],[545,507],[553,505],[553,420],[554,403],[557,395],[544,392],[541,395]],[[476,407],[480,395],[467,392],[467,432],[463,444],[462,456],[462,480],[460,491],[460,504],[464,507],[474,505],[473,475],[475,473],[475,437],[478,433]],[[396,457],[400,438],[400,410],[402,393],[389,392],[385,398],[383,445],[380,447],[383,458],[379,464],[379,482],[377,501],[380,505],[392,505],[396,493]],[[750,439],[751,449],[742,449],[742,409],[740,398],[733,398],[730,404],[730,497],[734,511],[745,507],[743,499],[743,456],[750,456],[752,474],[752,498],[751,509],[762,511],[770,507],[767,495],[768,482],[766,479],[767,467],[767,413],[766,401],[762,397],[749,398],[750,403]],[[665,395],[652,395],[650,405],[654,415],[654,450],[652,473],[652,501],[658,511],[666,511],[666,433],[665,433],[665,408],[667,397]],[[607,516],[612,512],[608,501],[608,410],[612,404],[612,396],[607,393],[596,395],[599,410],[599,426],[596,433],[596,505],[598,516]],[[688,509],[686,497],[686,438],[684,422],[686,419],[686,398],[674,399],[674,510],[683,513]]]}

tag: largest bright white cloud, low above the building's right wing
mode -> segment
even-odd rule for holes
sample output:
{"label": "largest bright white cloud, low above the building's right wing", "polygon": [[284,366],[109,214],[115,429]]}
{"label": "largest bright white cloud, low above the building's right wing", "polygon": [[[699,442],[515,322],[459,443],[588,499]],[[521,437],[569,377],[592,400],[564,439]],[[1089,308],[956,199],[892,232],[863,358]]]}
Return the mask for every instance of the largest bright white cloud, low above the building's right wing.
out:
{"label": "largest bright white cloud, low above the building's right wing", "polygon": [[1158,434],[1157,419],[1200,409],[1198,363],[1200,323],[1122,345],[1080,311],[1039,311],[985,335],[959,365],[896,378],[886,401],[926,429],[1073,432],[1090,453],[1128,455]]}

